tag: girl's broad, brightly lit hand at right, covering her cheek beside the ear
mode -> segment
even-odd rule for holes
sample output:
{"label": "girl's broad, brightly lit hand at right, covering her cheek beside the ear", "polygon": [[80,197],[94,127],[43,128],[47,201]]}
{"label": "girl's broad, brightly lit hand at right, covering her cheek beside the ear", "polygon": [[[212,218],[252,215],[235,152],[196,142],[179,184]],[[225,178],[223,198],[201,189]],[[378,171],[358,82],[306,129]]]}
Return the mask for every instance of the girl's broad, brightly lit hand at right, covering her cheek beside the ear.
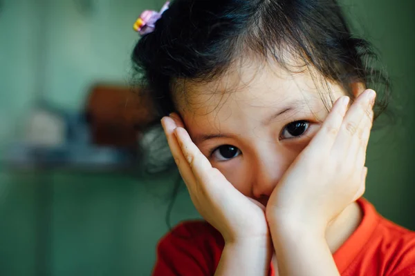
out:
{"label": "girl's broad, brightly lit hand at right, covering her cheek beside the ear", "polygon": [[336,101],[271,194],[266,208],[270,228],[285,224],[324,235],[331,219],[362,196],[375,97],[374,90],[365,90],[349,110],[348,97]]}

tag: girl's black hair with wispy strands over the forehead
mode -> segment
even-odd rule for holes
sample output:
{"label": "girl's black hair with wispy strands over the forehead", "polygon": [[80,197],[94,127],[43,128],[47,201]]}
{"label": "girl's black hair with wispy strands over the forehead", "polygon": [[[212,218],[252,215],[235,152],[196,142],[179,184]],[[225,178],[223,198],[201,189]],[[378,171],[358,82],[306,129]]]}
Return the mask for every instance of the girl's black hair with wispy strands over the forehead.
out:
{"label": "girl's black hair with wispy strands over the forehead", "polygon": [[211,81],[244,55],[274,59],[287,70],[289,53],[335,81],[377,92],[375,119],[387,108],[391,83],[366,39],[352,34],[335,0],[175,0],[133,50],[140,86],[156,107],[156,121],[176,111],[178,79]]}

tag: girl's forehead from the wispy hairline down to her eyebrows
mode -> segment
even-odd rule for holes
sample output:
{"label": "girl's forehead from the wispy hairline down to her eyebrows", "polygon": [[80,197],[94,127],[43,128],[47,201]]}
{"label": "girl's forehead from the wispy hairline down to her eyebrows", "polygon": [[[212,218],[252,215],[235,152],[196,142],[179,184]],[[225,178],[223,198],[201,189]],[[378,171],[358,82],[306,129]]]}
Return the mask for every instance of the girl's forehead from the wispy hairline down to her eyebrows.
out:
{"label": "girl's forehead from the wispy hairline down to her eyebrows", "polygon": [[277,64],[239,63],[214,81],[186,81],[176,105],[187,127],[221,130],[238,121],[262,121],[285,107],[298,112],[324,108],[322,98],[333,84],[322,83],[307,69],[288,72]]}

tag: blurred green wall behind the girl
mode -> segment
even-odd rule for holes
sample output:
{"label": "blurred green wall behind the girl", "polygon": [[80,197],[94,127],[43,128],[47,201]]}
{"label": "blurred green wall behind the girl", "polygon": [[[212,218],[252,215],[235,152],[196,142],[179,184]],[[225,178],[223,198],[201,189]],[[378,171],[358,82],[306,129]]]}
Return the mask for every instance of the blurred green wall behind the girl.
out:
{"label": "blurred green wall behind the girl", "polygon": [[[415,230],[413,143],[415,1],[343,1],[353,25],[380,50],[394,81],[400,124],[371,138],[366,197]],[[42,99],[76,112],[99,81],[131,81],[132,24],[163,1],[0,0],[0,156],[22,139]],[[168,230],[177,172],[15,170],[0,165],[0,275],[149,275]],[[137,168],[140,171],[140,168]],[[198,217],[185,190],[172,224]]]}

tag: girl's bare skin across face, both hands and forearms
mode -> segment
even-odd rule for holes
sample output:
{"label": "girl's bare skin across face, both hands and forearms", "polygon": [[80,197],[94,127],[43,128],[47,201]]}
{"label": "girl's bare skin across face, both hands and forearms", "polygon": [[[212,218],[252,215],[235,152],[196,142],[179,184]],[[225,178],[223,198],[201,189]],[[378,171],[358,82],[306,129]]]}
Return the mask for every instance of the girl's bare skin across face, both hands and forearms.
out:
{"label": "girl's bare skin across face, both hands and forearms", "polygon": [[[196,209],[225,240],[215,275],[266,275],[273,256],[279,275],[339,275],[332,253],[360,223],[375,93],[351,83],[348,108],[329,82],[328,114],[308,71],[254,64],[187,81],[179,114],[162,119]],[[303,135],[288,131],[293,121],[308,122]],[[237,154],[211,153],[224,145]]]}

